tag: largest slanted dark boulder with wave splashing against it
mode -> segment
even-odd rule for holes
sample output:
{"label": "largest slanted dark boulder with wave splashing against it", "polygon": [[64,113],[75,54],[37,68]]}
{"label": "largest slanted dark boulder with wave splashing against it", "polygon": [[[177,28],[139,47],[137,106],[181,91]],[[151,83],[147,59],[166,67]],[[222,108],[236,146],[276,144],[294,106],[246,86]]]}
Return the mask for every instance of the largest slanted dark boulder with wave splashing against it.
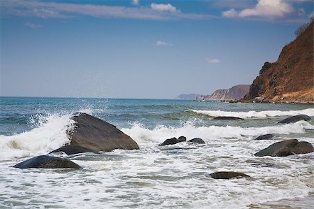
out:
{"label": "largest slanted dark boulder with wave splashing against it", "polygon": [[138,150],[135,140],[114,127],[114,125],[85,113],[72,117],[75,129],[68,130],[70,145],[78,145],[93,152],[114,149]]}

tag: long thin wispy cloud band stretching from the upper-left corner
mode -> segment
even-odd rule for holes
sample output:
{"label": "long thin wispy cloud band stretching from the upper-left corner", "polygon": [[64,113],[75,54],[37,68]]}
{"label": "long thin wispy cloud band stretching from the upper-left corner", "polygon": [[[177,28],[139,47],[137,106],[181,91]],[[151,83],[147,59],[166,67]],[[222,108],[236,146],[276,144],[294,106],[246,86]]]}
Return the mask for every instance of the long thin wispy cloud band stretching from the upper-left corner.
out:
{"label": "long thin wispy cloud band stretching from the upper-left corner", "polygon": [[142,20],[209,19],[213,17],[211,15],[181,13],[180,10],[177,10],[177,8],[170,4],[155,3],[151,7],[125,7],[24,0],[1,1],[1,13],[1,15],[20,15],[42,18],[66,18],[75,15],[86,15],[100,18]]}

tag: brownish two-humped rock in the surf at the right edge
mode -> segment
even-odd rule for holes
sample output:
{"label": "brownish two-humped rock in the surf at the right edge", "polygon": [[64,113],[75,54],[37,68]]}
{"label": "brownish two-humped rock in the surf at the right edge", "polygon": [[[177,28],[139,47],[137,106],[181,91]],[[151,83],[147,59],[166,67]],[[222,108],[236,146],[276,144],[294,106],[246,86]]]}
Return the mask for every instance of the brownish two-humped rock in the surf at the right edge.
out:
{"label": "brownish two-humped rock in the surf at the right edge", "polygon": [[257,157],[285,157],[291,154],[306,154],[310,152],[314,152],[314,147],[311,143],[305,141],[298,142],[297,139],[290,139],[274,143],[264,150],[256,152],[254,155]]}

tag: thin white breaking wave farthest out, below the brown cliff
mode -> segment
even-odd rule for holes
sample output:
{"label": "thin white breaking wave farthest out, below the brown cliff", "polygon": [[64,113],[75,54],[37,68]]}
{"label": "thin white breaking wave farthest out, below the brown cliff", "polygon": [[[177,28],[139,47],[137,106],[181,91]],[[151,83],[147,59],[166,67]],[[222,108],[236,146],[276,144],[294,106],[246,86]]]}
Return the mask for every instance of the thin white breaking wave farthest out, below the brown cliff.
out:
{"label": "thin white breaking wave farthest out, below the brown cliff", "polygon": [[267,110],[267,111],[249,111],[249,112],[231,112],[231,111],[221,111],[221,110],[186,110],[187,112],[193,112],[200,115],[209,115],[211,117],[220,117],[220,116],[233,116],[233,117],[276,117],[283,115],[308,115],[314,116],[314,108],[308,108],[304,110]]}

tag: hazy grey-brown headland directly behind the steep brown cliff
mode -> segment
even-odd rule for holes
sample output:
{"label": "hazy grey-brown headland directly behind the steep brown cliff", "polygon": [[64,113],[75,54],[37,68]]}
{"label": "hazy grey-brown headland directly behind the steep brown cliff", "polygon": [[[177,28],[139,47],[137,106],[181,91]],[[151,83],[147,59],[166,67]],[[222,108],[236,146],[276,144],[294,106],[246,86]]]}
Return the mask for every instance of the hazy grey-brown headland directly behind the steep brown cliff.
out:
{"label": "hazy grey-brown headland directly behind the steep brown cliff", "polygon": [[251,85],[236,85],[230,89],[218,89],[213,94],[204,96],[205,100],[237,100],[242,99]]}

